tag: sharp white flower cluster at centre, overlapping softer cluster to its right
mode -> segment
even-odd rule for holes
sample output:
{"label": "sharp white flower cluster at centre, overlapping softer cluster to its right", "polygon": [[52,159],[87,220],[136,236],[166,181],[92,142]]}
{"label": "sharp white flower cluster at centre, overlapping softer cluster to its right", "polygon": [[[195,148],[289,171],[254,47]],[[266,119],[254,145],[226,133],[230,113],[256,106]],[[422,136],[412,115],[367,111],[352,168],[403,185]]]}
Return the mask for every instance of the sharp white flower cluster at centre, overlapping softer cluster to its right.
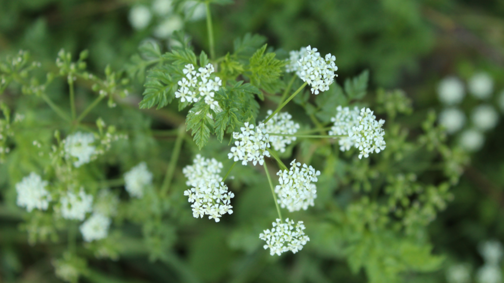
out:
{"label": "sharp white flower cluster at centre, overlapping softer cluster to its right", "polygon": [[241,164],[247,165],[251,161],[254,166],[259,162],[260,165],[264,163],[264,157],[270,156],[267,148],[270,147],[270,136],[265,133],[264,123],[260,123],[254,130],[254,125],[245,122],[244,126],[240,128],[241,133],[233,132],[235,147],[231,148],[231,153],[227,156],[229,159],[233,158],[234,161],[241,160]]}

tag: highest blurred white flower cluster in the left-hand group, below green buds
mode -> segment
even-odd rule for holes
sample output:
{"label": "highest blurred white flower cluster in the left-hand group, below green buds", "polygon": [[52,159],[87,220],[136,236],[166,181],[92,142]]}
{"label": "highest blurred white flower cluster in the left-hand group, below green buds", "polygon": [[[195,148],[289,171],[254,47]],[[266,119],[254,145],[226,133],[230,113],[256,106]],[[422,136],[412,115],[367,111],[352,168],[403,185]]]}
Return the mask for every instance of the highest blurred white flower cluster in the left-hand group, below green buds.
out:
{"label": "highest blurred white flower cluster in the left-hand group, below green buds", "polygon": [[91,162],[96,154],[96,147],[92,145],[94,141],[92,133],[79,131],[67,136],[63,140],[66,158],[74,161],[75,167],[81,167],[81,165]]}

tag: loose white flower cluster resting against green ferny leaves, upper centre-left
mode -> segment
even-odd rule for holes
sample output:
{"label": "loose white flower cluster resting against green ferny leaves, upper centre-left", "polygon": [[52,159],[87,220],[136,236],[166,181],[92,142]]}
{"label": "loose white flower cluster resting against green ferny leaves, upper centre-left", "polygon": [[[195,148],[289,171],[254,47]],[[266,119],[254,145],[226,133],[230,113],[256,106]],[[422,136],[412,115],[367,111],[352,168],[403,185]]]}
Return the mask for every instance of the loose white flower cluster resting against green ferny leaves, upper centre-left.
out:
{"label": "loose white flower cluster resting against green ferny leaves, upper centre-left", "polygon": [[191,103],[198,102],[199,96],[201,96],[212,110],[222,111],[219,103],[214,100],[215,92],[222,86],[222,81],[219,77],[210,79],[210,75],[215,71],[214,66],[207,64],[205,67],[200,67],[199,72],[196,72],[193,64],[187,64],[182,71],[185,78],[178,81],[179,88],[175,92],[175,97],[180,98],[181,102]]}

